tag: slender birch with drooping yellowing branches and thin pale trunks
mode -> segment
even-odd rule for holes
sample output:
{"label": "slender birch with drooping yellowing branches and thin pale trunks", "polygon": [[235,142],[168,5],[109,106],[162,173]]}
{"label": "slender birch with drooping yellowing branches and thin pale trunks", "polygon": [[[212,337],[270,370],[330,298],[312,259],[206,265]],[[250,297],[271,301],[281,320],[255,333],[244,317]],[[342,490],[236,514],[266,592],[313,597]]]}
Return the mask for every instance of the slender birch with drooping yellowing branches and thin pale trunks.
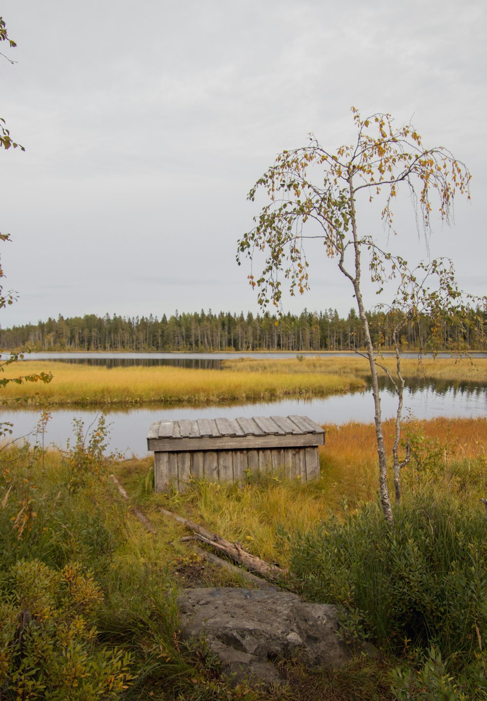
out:
{"label": "slender birch with drooping yellowing branches and thin pale trunks", "polygon": [[[333,259],[353,288],[359,318],[362,322],[372,379],[374,419],[379,461],[379,491],[384,517],[392,525],[393,515],[387,488],[387,456],[383,437],[378,389],[377,353],[369,329],[369,319],[362,297],[362,258],[367,261],[368,275],[383,292],[385,285],[393,286],[390,308],[397,310],[398,318],[406,322],[420,312],[441,315],[454,310],[458,318],[465,316],[467,306],[455,285],[453,266],[442,259],[427,261],[411,268],[401,255],[384,250],[380,238],[368,231],[360,231],[357,206],[366,196],[369,202],[380,198],[383,203],[381,229],[396,234],[392,205],[399,191],[411,196],[416,212],[417,229],[429,233],[432,216],[449,223],[453,216],[455,195],[469,198],[470,173],[444,147],[425,148],[420,134],[413,125],[397,128],[390,114],[374,114],[362,119],[352,107],[357,130],[355,142],[328,151],[310,135],[309,144],[299,149],[282,151],[249,192],[254,201],[259,189],[266,191],[268,203],[254,217],[255,226],[238,241],[237,260],[249,257],[252,263],[259,253],[264,264],[260,275],[251,270],[249,283],[256,287],[259,304],[282,303],[282,278],[287,280],[291,295],[303,294],[309,289],[309,261],[306,243],[320,239],[324,252]],[[421,273],[424,273],[423,278]],[[436,287],[428,284],[436,280]],[[470,297],[470,301],[474,298]],[[476,300],[477,303],[479,300]],[[481,300],[484,304],[485,300]],[[399,313],[400,311],[400,313]],[[471,311],[471,310],[469,310]],[[397,331],[399,331],[402,321]],[[397,430],[402,411],[402,383],[399,346],[397,348],[397,382],[399,396]],[[398,433],[399,436],[399,433]],[[399,437],[395,444],[395,466]],[[399,472],[397,498],[400,496]]]}

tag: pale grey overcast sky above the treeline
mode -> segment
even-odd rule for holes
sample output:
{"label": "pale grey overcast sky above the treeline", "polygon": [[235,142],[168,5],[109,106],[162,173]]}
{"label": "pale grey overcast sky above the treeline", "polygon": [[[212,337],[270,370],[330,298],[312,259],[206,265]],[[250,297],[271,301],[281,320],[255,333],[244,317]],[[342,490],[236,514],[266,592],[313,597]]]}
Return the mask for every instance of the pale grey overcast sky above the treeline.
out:
{"label": "pale grey overcast sky above the treeline", "polygon": [[[485,0],[3,0],[18,43],[0,50],[0,116],[23,146],[0,153],[0,324],[176,309],[256,312],[236,241],[247,192],[313,131],[335,149],[350,106],[413,123],[472,172],[432,255],[486,294]],[[482,214],[481,214],[482,212]],[[380,221],[364,215],[370,233]],[[391,248],[425,254],[400,208]],[[312,289],[284,311],[353,305],[322,248]],[[376,298],[366,295],[367,307]]]}

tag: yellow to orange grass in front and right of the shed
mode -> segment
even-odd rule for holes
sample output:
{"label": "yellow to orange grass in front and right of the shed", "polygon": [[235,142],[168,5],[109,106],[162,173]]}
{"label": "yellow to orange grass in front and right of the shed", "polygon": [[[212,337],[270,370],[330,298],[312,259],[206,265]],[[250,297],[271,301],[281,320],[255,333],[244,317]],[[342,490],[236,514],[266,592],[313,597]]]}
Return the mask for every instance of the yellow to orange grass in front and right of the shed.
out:
{"label": "yellow to orange grass in front and right of the shed", "polygon": [[[327,425],[326,444],[320,447],[320,479],[301,483],[282,479],[282,475],[256,475],[243,486],[195,483],[185,494],[153,494],[147,489],[147,461],[119,463],[118,471],[131,493],[151,512],[151,518],[166,529],[172,524],[161,519],[157,507],[203,521],[212,531],[239,540],[270,562],[282,560],[280,526],[291,531],[313,528],[324,517],[351,515],[362,505],[375,501],[378,489],[378,458],[372,424]],[[404,433],[416,435],[429,449],[437,447],[434,469],[418,467],[419,452],[403,470],[406,492],[432,486],[438,493],[483,509],[479,498],[487,494],[487,420],[439,418],[434,421],[405,422]],[[392,447],[393,423],[385,424],[388,447]],[[455,437],[455,440],[453,439]],[[423,440],[419,440],[422,438]],[[457,444],[456,453],[453,444]],[[391,485],[392,486],[392,485]],[[174,538],[174,530],[167,531]],[[284,563],[285,564],[285,563]]]}

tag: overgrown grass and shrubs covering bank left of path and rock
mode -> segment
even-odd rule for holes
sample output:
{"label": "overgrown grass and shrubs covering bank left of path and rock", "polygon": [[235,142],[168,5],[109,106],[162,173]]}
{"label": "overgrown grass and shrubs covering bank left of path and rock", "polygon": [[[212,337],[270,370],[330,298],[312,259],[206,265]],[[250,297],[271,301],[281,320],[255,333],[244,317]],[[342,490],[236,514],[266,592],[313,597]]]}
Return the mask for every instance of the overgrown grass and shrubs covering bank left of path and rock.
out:
{"label": "overgrown grass and shrubs covering bank left of path and rock", "polygon": [[[174,526],[154,538],[132,521],[101,474],[103,465],[95,465],[91,479],[85,473],[83,482],[73,484],[66,455],[48,451],[43,457],[26,446],[11,447],[0,458],[1,697],[43,698],[45,692],[60,701],[265,698],[250,688],[233,690],[219,679],[204,648],[181,641],[178,557],[170,545]],[[87,467],[94,467],[95,457],[87,455]],[[74,458],[79,465],[79,451]],[[65,568],[74,573],[74,612],[67,609]],[[59,594],[50,591],[56,583]],[[225,583],[218,573],[209,582]],[[96,606],[84,614],[81,597],[91,592]],[[27,620],[21,644],[20,616]],[[122,659],[132,676],[128,684],[116,667]],[[113,686],[112,693],[90,695],[85,686],[96,674],[107,683],[113,676],[114,684],[118,674],[123,690]]]}

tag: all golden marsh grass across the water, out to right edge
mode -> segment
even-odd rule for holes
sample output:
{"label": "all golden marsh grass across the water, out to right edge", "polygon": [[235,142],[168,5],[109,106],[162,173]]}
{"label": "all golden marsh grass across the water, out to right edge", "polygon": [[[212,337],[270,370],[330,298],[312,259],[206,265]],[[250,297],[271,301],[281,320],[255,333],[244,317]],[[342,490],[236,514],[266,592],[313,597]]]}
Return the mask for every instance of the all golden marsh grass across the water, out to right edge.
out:
{"label": "all golden marsh grass across the water, out to right edge", "polygon": [[[302,358],[302,359],[301,359]],[[387,357],[384,364],[394,370],[395,361]],[[487,359],[474,364],[451,359],[403,360],[406,379],[436,380],[452,383],[486,383]],[[130,404],[225,404],[256,402],[284,397],[325,397],[362,390],[369,378],[364,358],[300,356],[291,359],[226,360],[224,372],[178,367],[116,367],[107,369],[62,362],[25,361],[15,367],[22,374],[52,372],[49,384],[26,386],[32,400],[49,406],[130,405]],[[380,370],[380,374],[384,374]],[[1,390],[2,399],[15,401],[22,394],[18,385]]]}

